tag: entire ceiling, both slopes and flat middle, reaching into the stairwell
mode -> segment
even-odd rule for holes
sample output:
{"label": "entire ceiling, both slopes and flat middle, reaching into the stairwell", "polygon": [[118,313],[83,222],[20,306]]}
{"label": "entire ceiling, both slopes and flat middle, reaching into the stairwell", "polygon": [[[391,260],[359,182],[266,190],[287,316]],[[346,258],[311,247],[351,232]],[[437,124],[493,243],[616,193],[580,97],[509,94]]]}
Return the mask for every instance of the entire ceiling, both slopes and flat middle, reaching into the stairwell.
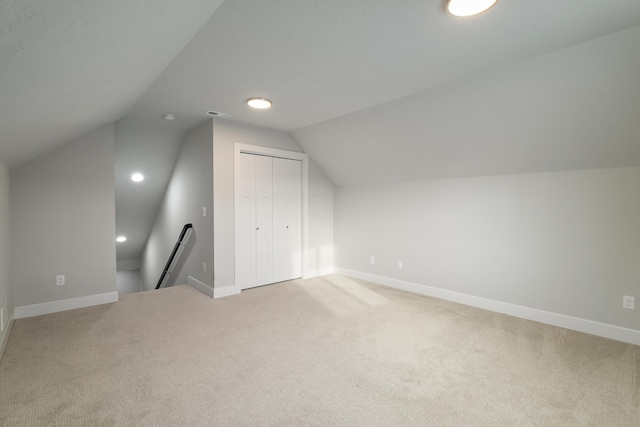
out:
{"label": "entire ceiling, both slopes and flat middle, reaching into the stairwell", "polygon": [[[638,26],[637,0],[0,0],[0,162],[116,122],[117,173],[166,183],[215,110],[339,186],[637,165]],[[120,218],[151,215],[162,190],[119,179]]]}

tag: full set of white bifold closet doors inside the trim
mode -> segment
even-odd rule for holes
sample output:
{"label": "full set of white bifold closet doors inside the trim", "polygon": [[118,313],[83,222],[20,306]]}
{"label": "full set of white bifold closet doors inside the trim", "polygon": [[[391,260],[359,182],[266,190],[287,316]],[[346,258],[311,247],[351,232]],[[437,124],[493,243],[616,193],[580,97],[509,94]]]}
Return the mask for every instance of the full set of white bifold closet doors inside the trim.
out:
{"label": "full set of white bifold closet doors inside the trim", "polygon": [[302,163],[240,154],[235,276],[240,289],[302,276]]}

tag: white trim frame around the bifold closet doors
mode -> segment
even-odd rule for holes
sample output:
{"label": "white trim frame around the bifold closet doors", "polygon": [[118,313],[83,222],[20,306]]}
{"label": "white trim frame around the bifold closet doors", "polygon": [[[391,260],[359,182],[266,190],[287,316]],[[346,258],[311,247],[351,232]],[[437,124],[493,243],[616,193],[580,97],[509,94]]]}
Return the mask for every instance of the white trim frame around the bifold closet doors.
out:
{"label": "white trim frame around the bifold closet doors", "polygon": [[[299,153],[295,151],[287,151],[287,150],[279,150],[276,148],[262,147],[259,145],[250,145],[243,144],[240,142],[236,142],[233,144],[234,148],[234,198],[235,198],[235,184],[238,182],[238,171],[239,171],[239,162],[240,162],[240,154],[256,154],[260,156],[269,156],[269,157],[278,157],[281,159],[290,159],[290,160],[299,160],[302,163],[302,217],[301,217],[301,234],[302,234],[302,257],[301,257],[301,269],[302,269],[302,278],[306,279],[307,276],[307,254],[308,254],[308,218],[309,218],[309,157],[304,153]],[[234,218],[237,213],[235,212],[235,199],[234,199]],[[235,235],[235,225],[234,225],[234,235]],[[235,238],[234,238],[234,253],[235,253]],[[235,260],[234,260],[235,262]],[[234,267],[234,286],[236,293],[240,293],[240,283],[235,280],[235,267]]]}

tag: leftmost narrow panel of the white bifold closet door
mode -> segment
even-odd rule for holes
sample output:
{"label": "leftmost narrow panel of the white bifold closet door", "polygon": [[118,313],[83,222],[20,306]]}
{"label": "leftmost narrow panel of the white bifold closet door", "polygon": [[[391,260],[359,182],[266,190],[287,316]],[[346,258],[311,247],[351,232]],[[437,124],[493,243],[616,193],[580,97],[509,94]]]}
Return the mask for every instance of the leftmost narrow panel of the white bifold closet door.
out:
{"label": "leftmost narrow panel of the white bifold closet door", "polygon": [[240,289],[257,286],[256,156],[240,154],[235,183],[235,275]]}

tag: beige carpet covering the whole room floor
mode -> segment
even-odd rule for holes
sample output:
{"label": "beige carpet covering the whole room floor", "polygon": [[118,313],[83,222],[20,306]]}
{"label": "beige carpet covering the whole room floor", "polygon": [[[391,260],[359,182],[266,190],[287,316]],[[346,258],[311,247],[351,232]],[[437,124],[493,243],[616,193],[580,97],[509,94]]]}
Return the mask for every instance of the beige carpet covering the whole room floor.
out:
{"label": "beige carpet covering the whole room floor", "polygon": [[639,426],[640,347],[332,275],[15,322],[2,426]]}

